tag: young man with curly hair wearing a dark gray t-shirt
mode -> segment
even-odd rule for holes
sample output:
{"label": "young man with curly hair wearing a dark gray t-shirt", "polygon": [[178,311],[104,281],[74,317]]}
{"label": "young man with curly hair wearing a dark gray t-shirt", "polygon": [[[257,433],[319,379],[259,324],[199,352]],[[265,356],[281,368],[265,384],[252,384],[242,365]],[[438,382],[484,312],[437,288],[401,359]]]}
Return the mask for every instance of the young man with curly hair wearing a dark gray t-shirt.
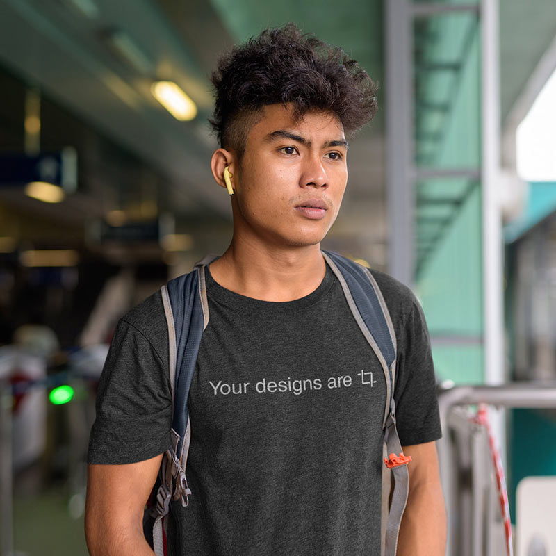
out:
{"label": "young man with curly hair wearing a dark gray t-shirt", "polygon": [[[228,174],[234,236],[205,269],[210,320],[189,393],[192,495],[188,507],[172,502],[170,554],[379,555],[386,381],[320,252],[346,186],[345,134],[374,115],[375,85],[295,26],[232,51],[213,83],[221,147],[211,168],[223,188]],[[425,321],[407,288],[373,275],[395,328],[398,432],[413,459],[398,554],[441,555]],[[122,318],[99,387],[92,555],[152,555],[142,512],[171,423],[156,293]]]}

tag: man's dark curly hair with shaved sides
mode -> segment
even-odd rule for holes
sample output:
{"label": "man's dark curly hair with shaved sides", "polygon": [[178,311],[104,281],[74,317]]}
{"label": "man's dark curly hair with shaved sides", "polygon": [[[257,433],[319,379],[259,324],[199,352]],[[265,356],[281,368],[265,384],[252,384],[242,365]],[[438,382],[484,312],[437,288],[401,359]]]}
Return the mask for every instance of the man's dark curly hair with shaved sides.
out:
{"label": "man's dark curly hair with shaved sides", "polygon": [[220,58],[212,75],[213,126],[221,147],[243,155],[249,129],[268,104],[293,105],[300,120],[311,111],[333,113],[352,135],[377,111],[377,86],[339,47],[294,24],[265,29]]}

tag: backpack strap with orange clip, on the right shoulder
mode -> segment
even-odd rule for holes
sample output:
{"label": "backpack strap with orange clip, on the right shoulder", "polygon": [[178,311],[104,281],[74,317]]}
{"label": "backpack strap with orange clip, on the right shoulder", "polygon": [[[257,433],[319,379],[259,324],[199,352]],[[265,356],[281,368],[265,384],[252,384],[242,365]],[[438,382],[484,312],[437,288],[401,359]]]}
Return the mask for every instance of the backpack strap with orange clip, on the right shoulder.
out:
{"label": "backpack strap with orange clip, on the right shoulder", "polygon": [[384,464],[394,477],[391,506],[386,522],[384,556],[395,556],[409,493],[408,459],[402,454],[402,446],[395,426],[394,386],[397,348],[395,331],[384,297],[369,270],[336,253],[323,251],[322,255],[340,281],[352,315],[384,370],[386,404],[382,426],[388,454]]}

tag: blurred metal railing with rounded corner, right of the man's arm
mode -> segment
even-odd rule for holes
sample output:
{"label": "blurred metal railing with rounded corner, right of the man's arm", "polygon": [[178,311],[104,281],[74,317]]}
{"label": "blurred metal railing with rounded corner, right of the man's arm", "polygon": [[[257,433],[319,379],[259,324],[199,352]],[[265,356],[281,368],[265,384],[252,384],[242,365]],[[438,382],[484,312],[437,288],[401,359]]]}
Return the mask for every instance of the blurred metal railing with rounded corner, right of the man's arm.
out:
{"label": "blurred metal railing with rounded corner, right of the man's arm", "polygon": [[[494,538],[496,535],[491,530],[493,497],[486,496],[491,486],[488,438],[484,430],[473,425],[461,411],[463,407],[481,403],[505,409],[556,408],[556,382],[457,386],[439,394],[443,438],[438,447],[448,510],[448,556],[505,553],[503,537],[499,534],[498,539]],[[462,446],[467,446],[468,451]]]}

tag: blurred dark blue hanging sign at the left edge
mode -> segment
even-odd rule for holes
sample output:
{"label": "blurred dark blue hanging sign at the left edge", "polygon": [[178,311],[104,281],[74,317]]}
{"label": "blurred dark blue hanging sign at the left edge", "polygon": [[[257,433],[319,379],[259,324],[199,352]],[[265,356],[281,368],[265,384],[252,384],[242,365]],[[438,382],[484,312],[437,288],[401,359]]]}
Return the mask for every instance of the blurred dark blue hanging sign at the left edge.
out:
{"label": "blurred dark blue hanging sign at the left edge", "polygon": [[0,153],[0,186],[24,186],[32,181],[46,181],[67,193],[77,188],[77,154],[73,147],[56,153],[28,155]]}

